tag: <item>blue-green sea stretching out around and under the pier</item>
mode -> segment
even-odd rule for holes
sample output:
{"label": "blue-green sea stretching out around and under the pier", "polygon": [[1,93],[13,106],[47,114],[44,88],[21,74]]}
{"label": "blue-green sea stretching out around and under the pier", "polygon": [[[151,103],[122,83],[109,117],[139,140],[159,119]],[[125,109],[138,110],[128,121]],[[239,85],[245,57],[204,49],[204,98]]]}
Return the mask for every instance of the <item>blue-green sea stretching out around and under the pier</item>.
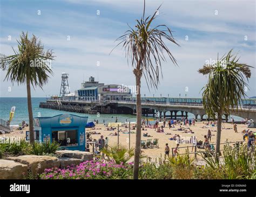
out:
{"label": "blue-green sea stretching out around and under the pier", "polygon": [[[51,110],[48,108],[40,108],[40,102],[45,102],[46,98],[32,98],[32,110],[33,117],[52,117],[59,114],[70,113],[76,114],[78,116],[88,117],[88,122],[98,120],[99,123],[111,123],[116,121],[124,123],[125,121],[136,121],[136,116],[129,114],[86,114],[86,113],[75,113],[75,112],[66,112],[59,110]],[[9,120],[11,107],[15,106],[14,118],[11,121],[11,125],[18,125],[22,123],[22,120],[25,120],[26,123],[29,122],[29,112],[28,112],[28,101],[26,97],[0,97],[0,118],[3,120]],[[169,112],[170,113],[170,112]],[[177,114],[179,114],[178,112]],[[166,113],[168,115],[168,113]],[[146,117],[144,117],[146,118]],[[153,119],[153,117],[147,117]],[[188,113],[188,119],[194,118],[193,114]],[[240,121],[239,117],[234,117],[235,120]],[[154,118],[156,119],[156,118]]]}

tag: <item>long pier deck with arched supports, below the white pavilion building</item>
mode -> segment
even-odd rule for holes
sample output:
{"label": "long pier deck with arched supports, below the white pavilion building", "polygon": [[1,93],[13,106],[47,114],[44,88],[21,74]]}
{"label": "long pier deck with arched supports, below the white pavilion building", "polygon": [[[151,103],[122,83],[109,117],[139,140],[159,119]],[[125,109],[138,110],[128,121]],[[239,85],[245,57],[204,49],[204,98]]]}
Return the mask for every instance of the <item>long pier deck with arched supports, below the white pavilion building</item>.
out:
{"label": "long pier deck with arched supports, below the white pavilion building", "polygon": [[[40,103],[41,108],[51,108],[53,110],[87,113],[87,114],[136,114],[136,101],[133,100],[65,100],[47,99]],[[241,118],[256,119],[255,105],[242,105],[242,108],[235,109],[230,115]],[[178,114],[180,112],[180,114]],[[142,115],[159,118],[181,118],[188,117],[192,113],[196,119],[207,119],[202,103],[164,103],[156,101],[142,101]],[[224,114],[228,119],[228,114]]]}

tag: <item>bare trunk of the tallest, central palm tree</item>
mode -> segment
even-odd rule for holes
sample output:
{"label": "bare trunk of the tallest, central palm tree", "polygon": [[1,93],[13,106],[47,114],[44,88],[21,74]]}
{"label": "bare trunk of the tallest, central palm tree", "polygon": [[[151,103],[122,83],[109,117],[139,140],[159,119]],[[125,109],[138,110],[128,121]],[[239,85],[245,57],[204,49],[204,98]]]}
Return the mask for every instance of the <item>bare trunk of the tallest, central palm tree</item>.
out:
{"label": "bare trunk of the tallest, central palm tree", "polygon": [[[135,70],[134,70],[135,71]],[[133,165],[133,179],[139,179],[139,158],[140,158],[140,140],[142,138],[141,130],[142,130],[142,103],[140,100],[140,79],[142,77],[142,73],[139,70],[134,72],[136,76],[136,115],[137,115],[137,127],[136,127],[136,144],[135,144],[135,152],[134,152],[134,165]]]}

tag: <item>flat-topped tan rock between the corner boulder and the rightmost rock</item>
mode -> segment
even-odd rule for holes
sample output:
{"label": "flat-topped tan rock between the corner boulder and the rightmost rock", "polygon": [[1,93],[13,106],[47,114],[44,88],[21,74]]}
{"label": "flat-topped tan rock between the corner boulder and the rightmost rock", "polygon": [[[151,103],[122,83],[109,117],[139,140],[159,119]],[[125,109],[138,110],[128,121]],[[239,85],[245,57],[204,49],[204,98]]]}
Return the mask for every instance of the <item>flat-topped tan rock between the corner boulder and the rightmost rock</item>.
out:
{"label": "flat-topped tan rock between the corner boulder and the rightmost rock", "polygon": [[8,157],[5,159],[28,165],[33,175],[43,173],[44,169],[46,168],[59,167],[59,160],[56,157],[42,155],[22,155],[19,157]]}

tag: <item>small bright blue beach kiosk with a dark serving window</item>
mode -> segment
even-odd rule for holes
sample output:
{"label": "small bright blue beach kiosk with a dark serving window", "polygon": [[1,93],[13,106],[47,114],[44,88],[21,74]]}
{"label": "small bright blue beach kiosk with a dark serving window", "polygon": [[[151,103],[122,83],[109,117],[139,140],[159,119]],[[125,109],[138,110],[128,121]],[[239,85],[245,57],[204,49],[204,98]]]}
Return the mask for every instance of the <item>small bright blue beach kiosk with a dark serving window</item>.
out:
{"label": "small bright blue beach kiosk with a dark serving window", "polygon": [[88,117],[74,114],[37,117],[34,118],[35,134],[39,142],[57,141],[65,150],[85,151],[87,120]]}

